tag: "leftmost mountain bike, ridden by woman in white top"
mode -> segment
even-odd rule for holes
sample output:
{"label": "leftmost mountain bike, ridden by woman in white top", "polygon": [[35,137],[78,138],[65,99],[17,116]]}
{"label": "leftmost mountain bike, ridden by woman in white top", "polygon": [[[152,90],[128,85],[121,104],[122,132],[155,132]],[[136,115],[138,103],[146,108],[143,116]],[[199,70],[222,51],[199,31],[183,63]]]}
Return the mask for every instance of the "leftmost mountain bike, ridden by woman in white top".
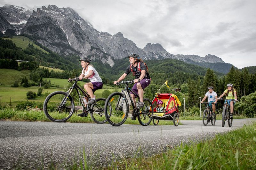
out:
{"label": "leftmost mountain bike, ridden by woman in white top", "polygon": [[[70,96],[73,89],[76,89],[79,100],[82,103],[83,112],[90,112],[91,118],[96,123],[105,123],[107,120],[104,115],[104,105],[106,99],[99,98],[94,104],[87,104],[85,106],[79,90],[83,93],[87,101],[90,99],[90,95],[84,91],[77,81],[79,77],[71,79],[69,82],[74,81],[74,84],[69,88],[68,92],[57,91],[49,94],[44,100],[44,114],[52,122],[66,122],[79,108],[75,108],[74,99]],[[111,107],[111,106],[109,106]]]}

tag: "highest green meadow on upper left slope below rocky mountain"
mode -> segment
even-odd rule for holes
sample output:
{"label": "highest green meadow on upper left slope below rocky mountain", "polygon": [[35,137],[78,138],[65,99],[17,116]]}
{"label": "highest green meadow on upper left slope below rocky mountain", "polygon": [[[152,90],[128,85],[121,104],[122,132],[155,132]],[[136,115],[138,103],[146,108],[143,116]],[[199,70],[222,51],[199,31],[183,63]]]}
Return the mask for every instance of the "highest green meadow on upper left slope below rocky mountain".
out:
{"label": "highest green meadow on upper left slope below rocky mountain", "polygon": [[42,50],[44,53],[49,54],[49,52],[45,51],[43,48],[36,45],[32,40],[28,37],[24,36],[13,36],[12,38],[4,38],[5,40],[11,40],[13,43],[16,44],[16,47],[20,47],[22,49],[26,49],[28,47],[28,43],[33,44],[33,46],[37,49]]}

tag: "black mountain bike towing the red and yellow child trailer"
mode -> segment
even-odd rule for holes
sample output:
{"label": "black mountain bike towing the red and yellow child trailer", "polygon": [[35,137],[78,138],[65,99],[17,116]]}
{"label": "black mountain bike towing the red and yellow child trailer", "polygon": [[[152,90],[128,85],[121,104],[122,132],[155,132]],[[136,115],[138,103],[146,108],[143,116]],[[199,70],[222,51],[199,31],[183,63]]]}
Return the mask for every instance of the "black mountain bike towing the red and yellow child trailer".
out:
{"label": "black mountain bike towing the red and yellow child trailer", "polygon": [[[106,100],[104,107],[105,117],[112,126],[120,126],[126,121],[129,114],[128,100],[131,101],[133,118],[138,117],[142,126],[147,126],[152,120],[151,114],[153,114],[153,105],[149,99],[145,98],[143,100],[144,106],[142,108],[135,107],[130,92],[138,98],[138,102],[140,101],[140,97],[128,87],[129,84],[133,83],[133,80],[117,82],[116,85],[125,84],[124,90],[110,94]],[[127,95],[129,96],[128,100],[126,98]]]}

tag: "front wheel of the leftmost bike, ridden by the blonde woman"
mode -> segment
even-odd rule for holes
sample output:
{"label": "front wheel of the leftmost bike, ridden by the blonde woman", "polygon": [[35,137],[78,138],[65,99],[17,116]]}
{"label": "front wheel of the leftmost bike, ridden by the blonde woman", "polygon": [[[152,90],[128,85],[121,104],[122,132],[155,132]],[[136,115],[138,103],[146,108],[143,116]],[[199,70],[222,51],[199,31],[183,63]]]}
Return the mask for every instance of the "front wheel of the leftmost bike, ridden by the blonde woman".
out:
{"label": "front wheel of the leftmost bike, ridden by the blonde woman", "polygon": [[44,100],[44,114],[52,122],[66,122],[74,108],[74,100],[66,92],[52,92]]}

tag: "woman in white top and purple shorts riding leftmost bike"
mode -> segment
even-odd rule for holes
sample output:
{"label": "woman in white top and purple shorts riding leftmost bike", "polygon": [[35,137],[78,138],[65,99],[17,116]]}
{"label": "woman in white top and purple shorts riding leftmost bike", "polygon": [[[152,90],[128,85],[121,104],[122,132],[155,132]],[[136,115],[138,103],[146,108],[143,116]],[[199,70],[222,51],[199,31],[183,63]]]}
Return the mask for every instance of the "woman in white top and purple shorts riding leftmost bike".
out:
{"label": "woman in white top and purple shorts riding leftmost bike", "polygon": [[[98,89],[102,89],[103,83],[102,80],[98,74],[98,72],[93,68],[91,63],[91,59],[87,57],[81,58],[79,61],[81,61],[81,66],[83,68],[81,75],[79,76],[79,79],[82,80],[83,78],[88,78],[91,82],[84,84],[84,89],[88,92],[91,99],[87,102],[87,104],[93,104],[96,102],[96,99],[94,97],[94,92]],[[81,117],[86,117],[88,113],[81,113],[77,114]]]}

